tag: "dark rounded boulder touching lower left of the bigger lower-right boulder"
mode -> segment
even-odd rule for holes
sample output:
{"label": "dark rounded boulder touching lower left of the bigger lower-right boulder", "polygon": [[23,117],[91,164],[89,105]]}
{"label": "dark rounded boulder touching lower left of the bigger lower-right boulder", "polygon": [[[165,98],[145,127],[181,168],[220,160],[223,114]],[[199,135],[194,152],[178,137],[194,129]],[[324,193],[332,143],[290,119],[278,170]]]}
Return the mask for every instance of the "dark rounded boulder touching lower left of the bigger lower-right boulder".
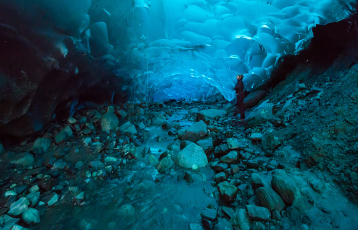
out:
{"label": "dark rounded boulder touching lower left of the bigger lower-right boulder", "polygon": [[281,212],[285,208],[284,201],[271,187],[258,188],[255,193],[260,204],[270,210],[270,212],[274,209]]}

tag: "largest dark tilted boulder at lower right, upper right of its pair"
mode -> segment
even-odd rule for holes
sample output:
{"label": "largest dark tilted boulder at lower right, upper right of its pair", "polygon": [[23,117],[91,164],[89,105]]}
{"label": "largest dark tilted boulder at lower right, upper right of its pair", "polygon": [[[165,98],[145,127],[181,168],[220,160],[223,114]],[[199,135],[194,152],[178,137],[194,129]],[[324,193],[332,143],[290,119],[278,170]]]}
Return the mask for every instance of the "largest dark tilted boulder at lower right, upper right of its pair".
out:
{"label": "largest dark tilted boulder at lower right, upper right of its pair", "polygon": [[301,198],[301,190],[297,187],[295,180],[289,176],[283,169],[274,171],[272,176],[272,188],[282,199],[292,205],[295,199]]}

